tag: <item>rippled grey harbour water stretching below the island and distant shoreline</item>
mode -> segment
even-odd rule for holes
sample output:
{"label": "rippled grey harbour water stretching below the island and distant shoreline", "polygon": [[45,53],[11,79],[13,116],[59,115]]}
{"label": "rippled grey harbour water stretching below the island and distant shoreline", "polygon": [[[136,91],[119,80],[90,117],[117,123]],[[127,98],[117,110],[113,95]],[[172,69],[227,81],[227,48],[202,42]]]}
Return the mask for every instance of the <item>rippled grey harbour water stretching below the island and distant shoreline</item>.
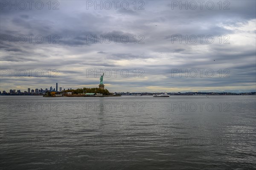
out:
{"label": "rippled grey harbour water stretching below the island and distant shoreline", "polygon": [[1,96],[0,168],[255,169],[255,96]]}

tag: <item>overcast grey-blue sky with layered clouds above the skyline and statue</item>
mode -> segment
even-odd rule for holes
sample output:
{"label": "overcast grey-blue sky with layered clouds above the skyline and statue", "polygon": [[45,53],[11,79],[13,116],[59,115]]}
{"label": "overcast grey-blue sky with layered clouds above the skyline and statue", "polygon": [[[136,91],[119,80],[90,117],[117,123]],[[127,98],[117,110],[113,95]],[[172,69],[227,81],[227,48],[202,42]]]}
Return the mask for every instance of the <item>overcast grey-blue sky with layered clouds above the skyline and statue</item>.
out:
{"label": "overcast grey-blue sky with layered clouds above the skyline and statue", "polygon": [[256,91],[256,1],[0,1],[0,91]]}

